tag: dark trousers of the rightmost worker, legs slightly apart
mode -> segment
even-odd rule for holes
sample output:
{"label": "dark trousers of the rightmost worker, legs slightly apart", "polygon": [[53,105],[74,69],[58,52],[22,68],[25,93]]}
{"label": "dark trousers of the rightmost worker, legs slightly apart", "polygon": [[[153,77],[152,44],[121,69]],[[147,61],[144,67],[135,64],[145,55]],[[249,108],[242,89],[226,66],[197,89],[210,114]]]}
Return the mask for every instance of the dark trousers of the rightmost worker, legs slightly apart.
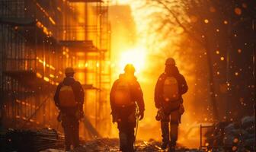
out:
{"label": "dark trousers of the rightmost worker, legs slightly apart", "polygon": [[[171,119],[170,119],[171,116]],[[181,114],[179,110],[172,111],[170,114],[163,116],[161,120],[162,141],[169,144],[169,147],[175,147],[178,140],[178,125],[180,122]],[[170,123],[170,129],[169,129]],[[171,139],[171,141],[170,141]]]}

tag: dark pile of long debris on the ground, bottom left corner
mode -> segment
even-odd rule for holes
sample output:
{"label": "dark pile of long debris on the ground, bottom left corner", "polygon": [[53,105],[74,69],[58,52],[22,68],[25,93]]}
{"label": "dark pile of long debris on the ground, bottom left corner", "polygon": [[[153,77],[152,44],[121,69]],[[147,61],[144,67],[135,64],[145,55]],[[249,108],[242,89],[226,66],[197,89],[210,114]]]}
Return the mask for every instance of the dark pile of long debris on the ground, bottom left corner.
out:
{"label": "dark pile of long debris on the ground, bottom left corner", "polygon": [[0,140],[1,151],[40,151],[63,147],[64,138],[50,128],[39,131],[8,129]]}

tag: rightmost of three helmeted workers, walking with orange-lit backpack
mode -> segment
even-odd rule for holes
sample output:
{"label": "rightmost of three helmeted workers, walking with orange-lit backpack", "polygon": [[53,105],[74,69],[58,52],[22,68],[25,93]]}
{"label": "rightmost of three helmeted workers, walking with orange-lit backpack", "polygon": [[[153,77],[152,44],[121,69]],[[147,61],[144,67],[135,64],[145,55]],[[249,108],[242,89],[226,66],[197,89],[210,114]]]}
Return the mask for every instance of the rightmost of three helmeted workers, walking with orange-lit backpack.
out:
{"label": "rightmost of three helmeted workers, walking with orange-lit backpack", "polygon": [[158,109],[155,119],[161,121],[162,149],[169,146],[169,151],[175,151],[178,125],[184,112],[181,95],[186,93],[187,89],[187,82],[175,66],[174,59],[168,58],[165,62],[165,72],[160,75],[155,86],[155,107]]}

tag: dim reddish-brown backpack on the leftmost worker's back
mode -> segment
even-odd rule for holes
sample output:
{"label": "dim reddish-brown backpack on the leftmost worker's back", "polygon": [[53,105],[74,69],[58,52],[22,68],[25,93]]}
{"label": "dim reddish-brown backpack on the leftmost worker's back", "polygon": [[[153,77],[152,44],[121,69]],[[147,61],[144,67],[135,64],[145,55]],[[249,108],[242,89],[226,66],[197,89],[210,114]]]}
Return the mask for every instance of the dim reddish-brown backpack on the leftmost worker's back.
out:
{"label": "dim reddish-brown backpack on the leftmost worker's back", "polygon": [[62,85],[59,90],[59,106],[74,107],[76,105],[75,94],[72,86]]}

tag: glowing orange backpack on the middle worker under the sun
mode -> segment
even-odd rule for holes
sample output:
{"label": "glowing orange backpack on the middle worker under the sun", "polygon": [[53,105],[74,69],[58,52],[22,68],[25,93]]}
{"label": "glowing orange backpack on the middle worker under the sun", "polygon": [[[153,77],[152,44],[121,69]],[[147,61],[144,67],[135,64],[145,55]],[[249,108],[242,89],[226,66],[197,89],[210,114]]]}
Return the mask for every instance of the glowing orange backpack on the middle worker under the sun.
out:
{"label": "glowing orange backpack on the middle worker under the sun", "polygon": [[115,106],[130,106],[132,104],[130,95],[130,84],[128,81],[120,80],[117,82],[116,91],[114,93]]}

